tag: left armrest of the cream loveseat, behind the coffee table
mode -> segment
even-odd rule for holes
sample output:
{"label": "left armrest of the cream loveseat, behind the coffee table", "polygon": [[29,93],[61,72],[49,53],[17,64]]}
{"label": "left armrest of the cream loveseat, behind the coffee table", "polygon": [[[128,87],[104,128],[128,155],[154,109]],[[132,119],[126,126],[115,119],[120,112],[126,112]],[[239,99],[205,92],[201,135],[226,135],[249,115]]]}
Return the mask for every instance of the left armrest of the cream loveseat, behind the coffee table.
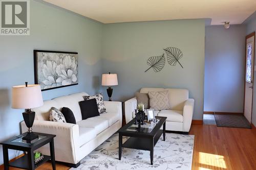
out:
{"label": "left armrest of the cream loveseat, behind the coffee table", "polygon": [[137,98],[134,97],[124,102],[125,122],[129,123],[133,119],[133,112],[137,108]]}

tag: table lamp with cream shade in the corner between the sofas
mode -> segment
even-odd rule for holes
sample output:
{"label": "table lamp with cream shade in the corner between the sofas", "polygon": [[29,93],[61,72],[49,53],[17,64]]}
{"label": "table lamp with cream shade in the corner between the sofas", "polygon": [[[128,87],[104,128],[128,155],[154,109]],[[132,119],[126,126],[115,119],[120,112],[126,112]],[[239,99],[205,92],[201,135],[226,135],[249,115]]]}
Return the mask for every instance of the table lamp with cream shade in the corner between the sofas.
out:
{"label": "table lamp with cream shade in the corner between the sofas", "polygon": [[109,101],[112,101],[111,96],[113,93],[113,88],[111,88],[111,86],[118,85],[117,74],[110,74],[110,72],[109,74],[102,74],[101,85],[109,86],[109,88],[106,89],[106,92],[108,93]]}

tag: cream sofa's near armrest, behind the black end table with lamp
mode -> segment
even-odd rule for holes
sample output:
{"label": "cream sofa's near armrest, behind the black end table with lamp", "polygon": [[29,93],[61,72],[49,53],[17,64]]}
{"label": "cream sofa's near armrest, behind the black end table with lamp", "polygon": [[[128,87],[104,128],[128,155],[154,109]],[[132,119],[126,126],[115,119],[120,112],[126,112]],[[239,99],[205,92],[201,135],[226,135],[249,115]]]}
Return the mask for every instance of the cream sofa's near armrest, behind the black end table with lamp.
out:
{"label": "cream sofa's near armrest, behind the black end table with lamp", "polygon": [[[21,123],[22,132],[27,132],[27,126],[23,121]],[[76,124],[51,122],[47,120],[35,120],[33,132],[48,133],[56,135],[54,137],[55,158],[57,161],[76,164],[80,160],[79,154],[79,127]],[[49,145],[39,149],[42,154],[50,155]]]}

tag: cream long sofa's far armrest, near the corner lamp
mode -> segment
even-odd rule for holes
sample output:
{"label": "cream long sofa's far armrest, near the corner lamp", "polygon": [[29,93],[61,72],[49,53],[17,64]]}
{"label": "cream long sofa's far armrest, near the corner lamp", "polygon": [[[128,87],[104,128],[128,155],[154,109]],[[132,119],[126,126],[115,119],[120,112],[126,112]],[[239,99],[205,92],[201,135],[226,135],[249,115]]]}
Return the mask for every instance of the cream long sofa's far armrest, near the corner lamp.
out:
{"label": "cream long sofa's far armrest, near the corner lamp", "polygon": [[104,105],[107,112],[115,112],[119,115],[120,127],[122,126],[122,102],[110,102],[104,101]]}

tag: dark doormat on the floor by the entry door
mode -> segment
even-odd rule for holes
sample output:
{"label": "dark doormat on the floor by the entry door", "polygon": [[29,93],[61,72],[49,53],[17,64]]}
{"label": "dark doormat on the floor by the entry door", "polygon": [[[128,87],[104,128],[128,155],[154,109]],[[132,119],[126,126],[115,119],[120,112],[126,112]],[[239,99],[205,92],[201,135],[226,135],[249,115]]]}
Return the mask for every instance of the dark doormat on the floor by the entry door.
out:
{"label": "dark doormat on the floor by the entry door", "polygon": [[243,115],[215,114],[214,117],[218,127],[251,128],[250,123]]}

